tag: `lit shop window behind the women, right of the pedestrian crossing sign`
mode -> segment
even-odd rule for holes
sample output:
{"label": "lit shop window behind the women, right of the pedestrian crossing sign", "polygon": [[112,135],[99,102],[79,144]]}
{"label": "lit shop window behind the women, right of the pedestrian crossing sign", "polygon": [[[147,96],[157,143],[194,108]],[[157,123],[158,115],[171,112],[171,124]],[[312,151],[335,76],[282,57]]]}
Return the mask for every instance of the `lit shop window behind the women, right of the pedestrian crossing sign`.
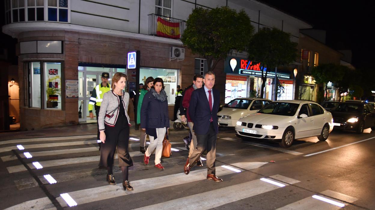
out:
{"label": "lit shop window behind the women, right of the pedestrian crossing sign", "polygon": [[168,104],[174,104],[175,92],[178,85],[178,69],[163,69],[163,68],[140,68],[139,69],[139,83],[145,83],[147,77],[154,79],[160,77],[164,81],[164,90],[168,96]]}

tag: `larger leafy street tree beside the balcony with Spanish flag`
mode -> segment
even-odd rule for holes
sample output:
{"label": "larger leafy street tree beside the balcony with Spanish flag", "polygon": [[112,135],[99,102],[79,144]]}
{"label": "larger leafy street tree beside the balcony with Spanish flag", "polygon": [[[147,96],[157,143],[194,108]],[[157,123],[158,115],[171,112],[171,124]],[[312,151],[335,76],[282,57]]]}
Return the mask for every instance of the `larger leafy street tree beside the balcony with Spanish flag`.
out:
{"label": "larger leafy street tree beside the balcony with Spanish flag", "polygon": [[232,51],[245,51],[253,33],[254,26],[244,10],[198,7],[187,18],[181,41],[193,54],[206,59],[208,71],[213,71]]}

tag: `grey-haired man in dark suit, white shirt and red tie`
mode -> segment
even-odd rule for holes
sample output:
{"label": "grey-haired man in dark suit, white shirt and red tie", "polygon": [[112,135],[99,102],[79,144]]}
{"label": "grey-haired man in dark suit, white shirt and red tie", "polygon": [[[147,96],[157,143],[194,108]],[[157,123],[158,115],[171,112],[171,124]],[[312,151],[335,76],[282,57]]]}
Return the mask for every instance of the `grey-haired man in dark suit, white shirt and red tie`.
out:
{"label": "grey-haired man in dark suit, white shirt and red tie", "polygon": [[213,89],[215,75],[211,71],[204,74],[204,87],[192,92],[189,104],[189,116],[193,121],[197,146],[193,154],[186,160],[184,173],[189,174],[191,167],[207,150],[207,179],[216,182],[223,181],[215,175],[216,139],[219,131],[217,110],[219,109],[220,94]]}

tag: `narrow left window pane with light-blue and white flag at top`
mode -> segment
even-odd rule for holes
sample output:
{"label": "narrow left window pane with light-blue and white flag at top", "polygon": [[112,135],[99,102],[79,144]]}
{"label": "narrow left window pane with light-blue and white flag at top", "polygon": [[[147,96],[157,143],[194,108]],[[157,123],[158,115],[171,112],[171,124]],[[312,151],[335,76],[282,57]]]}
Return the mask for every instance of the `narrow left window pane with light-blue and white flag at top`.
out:
{"label": "narrow left window pane with light-blue and white flag at top", "polygon": [[28,63],[29,69],[29,88],[30,93],[30,107],[40,108],[41,107],[41,94],[40,94],[40,62]]}

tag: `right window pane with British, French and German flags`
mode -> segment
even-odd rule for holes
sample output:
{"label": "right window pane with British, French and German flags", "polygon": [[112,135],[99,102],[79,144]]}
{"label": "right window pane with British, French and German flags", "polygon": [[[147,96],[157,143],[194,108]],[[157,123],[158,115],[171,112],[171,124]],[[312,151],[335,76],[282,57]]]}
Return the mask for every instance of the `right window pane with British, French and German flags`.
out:
{"label": "right window pane with British, French and German flags", "polygon": [[45,104],[47,109],[61,109],[61,63],[44,63]]}

